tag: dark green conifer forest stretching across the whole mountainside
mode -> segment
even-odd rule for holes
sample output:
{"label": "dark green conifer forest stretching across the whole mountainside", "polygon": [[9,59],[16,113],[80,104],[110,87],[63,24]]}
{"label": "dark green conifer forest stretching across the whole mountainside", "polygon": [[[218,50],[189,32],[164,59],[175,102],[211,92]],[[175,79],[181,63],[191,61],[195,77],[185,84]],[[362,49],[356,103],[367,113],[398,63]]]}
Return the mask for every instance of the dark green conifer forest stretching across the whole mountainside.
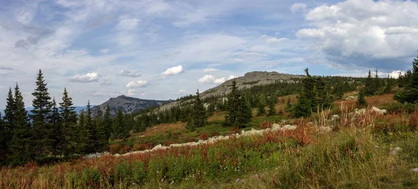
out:
{"label": "dark green conifer forest stretching across the whole mountainside", "polygon": [[329,108],[344,93],[356,90],[359,90],[359,107],[367,104],[364,96],[392,93],[395,87],[401,89],[396,90],[396,100],[416,104],[417,64],[415,59],[412,71],[400,74],[398,79],[379,78],[377,70],[374,76],[369,72],[366,78],[355,78],[311,76],[309,69],[305,69],[306,77],[295,82],[238,90],[234,81],[230,86],[232,92],[224,96],[201,99],[198,90],[196,95],[177,99],[180,105],[169,110],[151,107],[127,115],[119,110],[115,117],[111,117],[109,107],[103,110],[104,114],[93,117],[89,102],[86,110],[77,113],[65,88],[60,100],[50,97],[39,70],[30,115],[24,109],[19,85],[16,83],[14,90],[8,90],[6,109],[4,115],[0,115],[0,162],[1,165],[23,165],[28,161],[39,164],[68,161],[105,151],[110,140],[127,138],[132,132],[144,131],[157,124],[187,122],[187,129],[194,131],[205,126],[207,117],[214,112],[226,112],[224,126],[242,128],[250,122],[253,108],[256,108],[257,116],[278,114],[274,108],[277,97],[288,94],[297,94],[297,100],[282,99],[279,103],[286,103],[286,111],[291,117],[307,117],[318,108]]}

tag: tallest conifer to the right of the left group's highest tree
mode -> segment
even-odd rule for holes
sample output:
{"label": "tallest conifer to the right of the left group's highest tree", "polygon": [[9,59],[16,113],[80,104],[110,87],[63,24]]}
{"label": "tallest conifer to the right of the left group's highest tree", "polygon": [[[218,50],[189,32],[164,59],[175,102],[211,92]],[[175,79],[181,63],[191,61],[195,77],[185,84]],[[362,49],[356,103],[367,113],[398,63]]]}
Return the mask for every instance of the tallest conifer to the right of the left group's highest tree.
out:
{"label": "tallest conifer to the right of the left group's highest tree", "polygon": [[67,88],[64,88],[62,102],[59,103],[61,116],[61,134],[59,134],[58,149],[63,155],[76,151],[77,148],[77,112],[68,97]]}

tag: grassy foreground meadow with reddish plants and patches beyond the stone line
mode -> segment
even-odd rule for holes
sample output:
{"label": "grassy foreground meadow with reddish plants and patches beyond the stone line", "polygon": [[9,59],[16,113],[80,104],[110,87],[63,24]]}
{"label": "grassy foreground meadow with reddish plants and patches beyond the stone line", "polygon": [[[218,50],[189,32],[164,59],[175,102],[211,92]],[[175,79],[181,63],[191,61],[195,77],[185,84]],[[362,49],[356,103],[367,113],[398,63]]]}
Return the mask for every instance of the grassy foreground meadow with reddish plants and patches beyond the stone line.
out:
{"label": "grassy foreground meadow with reddish plants and patches beyond the stone line", "polygon": [[[396,104],[391,95],[367,100],[380,108]],[[355,101],[335,102],[341,103],[350,107]],[[284,105],[277,104],[277,110],[281,108]],[[369,112],[355,118],[346,116],[348,112],[339,106],[330,110],[342,117],[332,133],[318,133],[316,126],[306,123],[320,118],[310,117],[288,120],[299,126],[297,131],[214,145],[3,168],[0,188],[418,188],[418,173],[411,171],[418,167],[418,112]],[[210,117],[212,124],[195,132],[182,123],[164,124],[132,138],[160,141],[171,133],[173,140],[180,133],[178,138],[186,140],[200,133],[233,132],[219,126],[222,117]],[[266,120],[277,122],[281,117],[256,117],[251,125]],[[401,150],[393,152],[396,147]]]}

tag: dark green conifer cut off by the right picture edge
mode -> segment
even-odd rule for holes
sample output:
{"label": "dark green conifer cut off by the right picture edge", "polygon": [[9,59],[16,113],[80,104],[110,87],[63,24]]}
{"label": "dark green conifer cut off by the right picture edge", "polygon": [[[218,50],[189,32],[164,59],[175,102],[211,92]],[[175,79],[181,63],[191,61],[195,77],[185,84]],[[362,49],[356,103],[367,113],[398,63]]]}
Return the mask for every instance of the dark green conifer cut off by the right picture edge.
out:
{"label": "dark green conifer cut off by the right picture edge", "polygon": [[418,56],[412,61],[412,72],[402,79],[403,90],[394,94],[394,99],[401,103],[418,103]]}

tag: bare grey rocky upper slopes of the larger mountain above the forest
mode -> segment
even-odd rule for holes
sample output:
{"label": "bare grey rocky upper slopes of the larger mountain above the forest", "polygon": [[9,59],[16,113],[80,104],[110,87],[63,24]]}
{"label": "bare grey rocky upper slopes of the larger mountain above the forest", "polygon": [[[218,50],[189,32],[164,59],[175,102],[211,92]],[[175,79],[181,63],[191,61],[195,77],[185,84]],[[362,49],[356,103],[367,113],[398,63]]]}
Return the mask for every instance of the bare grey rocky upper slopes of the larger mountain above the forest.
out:
{"label": "bare grey rocky upper slopes of the larger mountain above the forest", "polygon": [[[277,72],[248,72],[244,76],[235,78],[236,86],[238,89],[251,88],[255,85],[266,85],[275,82],[297,82],[298,79],[304,78],[303,75],[293,74],[281,74]],[[231,85],[233,79],[225,81],[224,83],[217,85],[215,88],[211,88],[201,93],[201,98],[205,99],[210,96],[220,96],[222,94],[228,94],[231,92]],[[187,100],[192,101],[192,100]],[[160,110],[168,110],[169,108],[176,106],[185,101],[172,101],[171,103],[160,106]]]}

